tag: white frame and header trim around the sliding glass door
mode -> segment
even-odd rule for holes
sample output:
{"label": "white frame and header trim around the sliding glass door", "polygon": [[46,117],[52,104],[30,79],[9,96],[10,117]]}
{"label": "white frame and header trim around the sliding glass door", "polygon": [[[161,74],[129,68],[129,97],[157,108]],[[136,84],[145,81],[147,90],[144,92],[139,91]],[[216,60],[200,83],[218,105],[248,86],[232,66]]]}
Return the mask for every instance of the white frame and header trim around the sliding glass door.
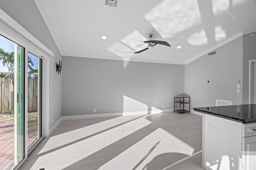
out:
{"label": "white frame and header trim around the sliding glass door", "polygon": [[36,39],[32,34],[30,34],[26,29],[19,25],[15,20],[13,20],[8,14],[6,14],[2,9],[0,9],[0,34],[11,41],[21,45],[25,48],[25,72],[24,75],[28,73],[28,51],[38,56],[43,56],[42,61],[42,138],[30,149],[28,153],[28,78],[25,76],[25,127],[24,127],[24,159],[14,168],[18,169],[24,161],[28,158],[28,155],[32,152],[34,147],[42,141],[44,137],[49,135],[49,117],[50,117],[50,88],[51,88],[51,78],[52,78],[52,58],[54,53],[50,51],[45,45],[43,45],[38,39]]}

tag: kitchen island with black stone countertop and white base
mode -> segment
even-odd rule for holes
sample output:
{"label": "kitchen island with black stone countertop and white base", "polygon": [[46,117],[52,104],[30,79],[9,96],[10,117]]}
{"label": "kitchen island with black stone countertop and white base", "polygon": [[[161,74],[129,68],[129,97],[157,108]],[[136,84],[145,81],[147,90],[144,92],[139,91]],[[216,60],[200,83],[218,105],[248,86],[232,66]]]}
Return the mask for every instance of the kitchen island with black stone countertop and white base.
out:
{"label": "kitchen island with black stone countertop and white base", "polygon": [[256,104],[196,107],[206,170],[256,170]]}

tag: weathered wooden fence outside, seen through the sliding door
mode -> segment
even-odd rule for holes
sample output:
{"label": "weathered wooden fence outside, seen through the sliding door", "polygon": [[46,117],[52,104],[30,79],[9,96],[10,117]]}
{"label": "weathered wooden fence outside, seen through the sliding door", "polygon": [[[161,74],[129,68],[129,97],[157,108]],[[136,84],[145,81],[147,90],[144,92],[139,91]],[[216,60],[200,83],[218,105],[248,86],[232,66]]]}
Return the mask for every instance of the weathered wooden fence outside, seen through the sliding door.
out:
{"label": "weathered wooden fence outside, seen through the sliding door", "polygon": [[[14,92],[11,92],[10,77],[0,77],[0,114],[14,113]],[[14,82],[13,82],[14,84]],[[38,79],[28,77],[28,112],[37,111]]]}

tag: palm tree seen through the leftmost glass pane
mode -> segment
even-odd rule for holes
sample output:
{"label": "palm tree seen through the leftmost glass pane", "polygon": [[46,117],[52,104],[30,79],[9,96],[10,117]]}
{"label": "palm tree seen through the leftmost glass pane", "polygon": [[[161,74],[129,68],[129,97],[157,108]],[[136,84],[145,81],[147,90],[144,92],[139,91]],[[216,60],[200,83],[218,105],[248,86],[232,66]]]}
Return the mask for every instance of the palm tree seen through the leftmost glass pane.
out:
{"label": "palm tree seen through the leftmost glass pane", "polygon": [[3,66],[7,66],[10,76],[13,78],[14,75],[14,52],[6,53],[3,49],[0,49],[0,61],[2,61]]}

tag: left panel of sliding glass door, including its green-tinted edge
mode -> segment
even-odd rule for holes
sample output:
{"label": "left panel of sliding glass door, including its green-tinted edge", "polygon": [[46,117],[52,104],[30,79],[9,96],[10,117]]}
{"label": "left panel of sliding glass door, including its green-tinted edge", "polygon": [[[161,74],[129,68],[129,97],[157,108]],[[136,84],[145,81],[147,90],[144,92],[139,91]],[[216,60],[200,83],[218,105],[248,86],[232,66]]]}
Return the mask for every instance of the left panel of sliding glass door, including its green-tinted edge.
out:
{"label": "left panel of sliding glass door, including its green-tinted edge", "polygon": [[25,48],[0,35],[0,169],[25,158]]}

